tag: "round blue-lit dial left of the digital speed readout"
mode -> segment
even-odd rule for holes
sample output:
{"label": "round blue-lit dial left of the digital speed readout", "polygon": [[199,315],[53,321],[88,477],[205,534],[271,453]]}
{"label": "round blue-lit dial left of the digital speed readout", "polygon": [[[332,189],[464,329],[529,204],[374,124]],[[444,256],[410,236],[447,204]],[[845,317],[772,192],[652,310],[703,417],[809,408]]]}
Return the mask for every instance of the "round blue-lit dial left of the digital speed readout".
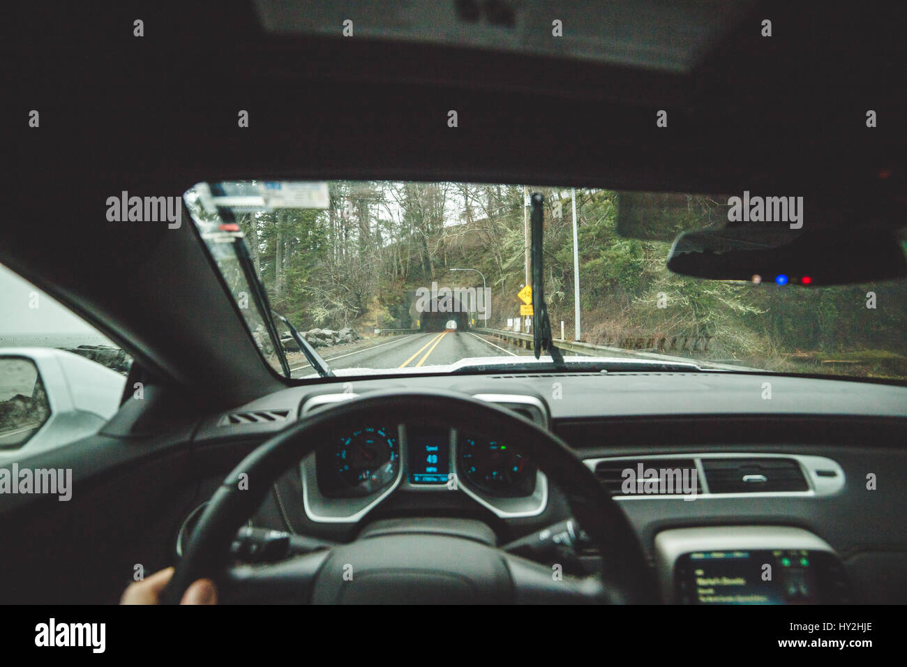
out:
{"label": "round blue-lit dial left of the digital speed readout", "polygon": [[336,474],[349,488],[371,494],[393,482],[400,469],[400,446],[395,431],[360,428],[340,436],[334,451]]}

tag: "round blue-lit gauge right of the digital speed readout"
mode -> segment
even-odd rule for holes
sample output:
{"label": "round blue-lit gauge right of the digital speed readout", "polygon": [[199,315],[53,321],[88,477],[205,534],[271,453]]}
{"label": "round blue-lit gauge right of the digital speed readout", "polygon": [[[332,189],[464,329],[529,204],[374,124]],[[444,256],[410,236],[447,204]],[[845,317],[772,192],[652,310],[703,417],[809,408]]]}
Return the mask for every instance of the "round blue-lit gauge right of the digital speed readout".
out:
{"label": "round blue-lit gauge right of the digital speed readout", "polygon": [[522,497],[535,490],[536,466],[516,446],[467,436],[458,458],[460,475],[489,495]]}

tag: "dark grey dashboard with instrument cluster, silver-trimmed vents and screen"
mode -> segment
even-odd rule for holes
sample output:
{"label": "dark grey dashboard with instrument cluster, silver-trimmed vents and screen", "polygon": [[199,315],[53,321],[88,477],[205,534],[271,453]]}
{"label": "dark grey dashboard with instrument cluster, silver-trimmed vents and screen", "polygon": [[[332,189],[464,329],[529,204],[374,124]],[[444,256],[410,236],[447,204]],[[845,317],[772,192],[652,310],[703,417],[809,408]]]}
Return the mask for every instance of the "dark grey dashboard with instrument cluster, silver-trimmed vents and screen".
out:
{"label": "dark grey dashboard with instrument cluster, silver-trimmed vents and screen", "polygon": [[[200,457],[208,446],[233,442],[238,460],[289,422],[373,389],[455,391],[551,430],[603,485],[613,483],[615,471],[640,464],[688,469],[698,483],[695,499],[612,494],[665,602],[903,603],[907,494],[889,477],[907,468],[907,388],[772,376],[775,398],[765,401],[764,379],[362,379],[346,383],[343,393],[340,383],[282,390],[212,417],[196,442]],[[281,480],[278,509],[263,508],[257,521],[345,543],[388,521],[469,517],[492,527],[495,544],[519,544],[527,553],[557,553],[555,539],[573,539],[580,564],[594,570],[597,554],[574,539],[564,490],[520,454],[519,443],[458,430],[443,416],[350,424]],[[868,484],[876,476],[878,486]],[[210,487],[220,479],[212,473]]]}

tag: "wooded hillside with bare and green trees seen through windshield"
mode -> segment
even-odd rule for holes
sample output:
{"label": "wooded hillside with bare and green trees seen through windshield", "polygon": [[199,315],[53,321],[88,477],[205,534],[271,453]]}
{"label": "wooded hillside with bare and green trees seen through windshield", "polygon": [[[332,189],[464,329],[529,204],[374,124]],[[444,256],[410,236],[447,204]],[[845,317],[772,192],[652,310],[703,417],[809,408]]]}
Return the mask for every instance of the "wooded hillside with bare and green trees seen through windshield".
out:
{"label": "wooded hillside with bare and green trees seen through windshield", "polygon": [[[573,331],[573,247],[568,189],[545,197],[545,294],[552,329]],[[244,214],[272,305],[297,329],[414,327],[417,287],[492,289],[488,324],[519,315],[523,188],[414,181],[332,181],[325,210]],[[641,230],[619,234],[621,205]],[[577,190],[582,338],[747,366],[907,376],[907,281],[804,289],[695,280],[665,267],[673,235],[723,224],[714,198]],[[647,217],[648,216],[648,217]],[[658,224],[651,221],[658,219]],[[867,293],[875,308],[867,308]]]}

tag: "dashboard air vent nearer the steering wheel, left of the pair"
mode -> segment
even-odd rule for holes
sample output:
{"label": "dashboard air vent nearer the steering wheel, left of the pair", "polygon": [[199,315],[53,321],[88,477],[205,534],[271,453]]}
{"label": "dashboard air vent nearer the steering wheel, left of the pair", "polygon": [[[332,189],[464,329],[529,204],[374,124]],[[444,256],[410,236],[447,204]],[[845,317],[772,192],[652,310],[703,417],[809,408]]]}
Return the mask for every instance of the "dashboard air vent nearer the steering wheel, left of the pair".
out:
{"label": "dashboard air vent nearer the steering wheel, left of the pair", "polygon": [[595,466],[595,476],[610,495],[702,493],[692,458],[606,459]]}

